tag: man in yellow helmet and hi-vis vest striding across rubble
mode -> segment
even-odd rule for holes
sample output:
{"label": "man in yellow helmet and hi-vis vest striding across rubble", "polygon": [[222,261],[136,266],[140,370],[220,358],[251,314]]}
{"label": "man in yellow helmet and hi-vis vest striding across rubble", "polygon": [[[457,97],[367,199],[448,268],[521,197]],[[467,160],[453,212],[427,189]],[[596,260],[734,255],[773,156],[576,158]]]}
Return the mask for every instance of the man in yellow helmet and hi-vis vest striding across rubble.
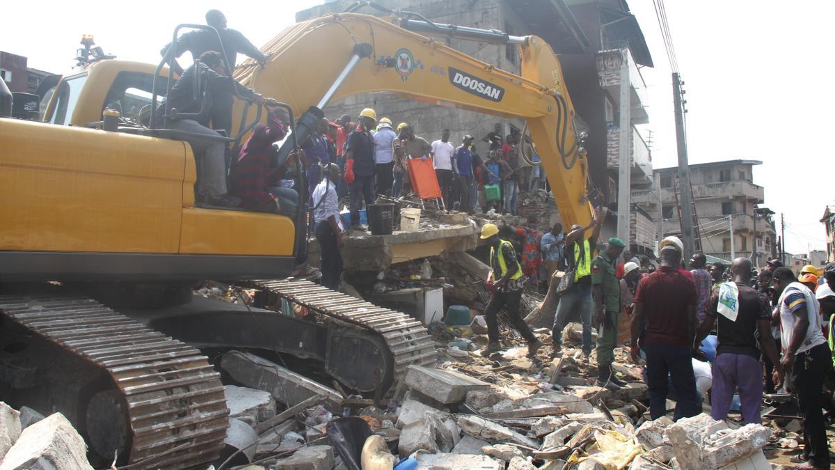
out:
{"label": "man in yellow helmet and hi-vis vest striding across rubble", "polygon": [[542,342],[536,338],[534,332],[519,315],[519,302],[522,300],[524,276],[513,243],[498,236],[498,227],[493,223],[485,223],[481,228],[481,239],[490,246],[490,274],[488,289],[493,291],[493,297],[484,311],[487,320],[487,335],[489,344],[483,355],[491,355],[502,349],[498,343],[498,312],[504,309],[514,328],[528,341],[528,355],[536,355],[542,347]]}

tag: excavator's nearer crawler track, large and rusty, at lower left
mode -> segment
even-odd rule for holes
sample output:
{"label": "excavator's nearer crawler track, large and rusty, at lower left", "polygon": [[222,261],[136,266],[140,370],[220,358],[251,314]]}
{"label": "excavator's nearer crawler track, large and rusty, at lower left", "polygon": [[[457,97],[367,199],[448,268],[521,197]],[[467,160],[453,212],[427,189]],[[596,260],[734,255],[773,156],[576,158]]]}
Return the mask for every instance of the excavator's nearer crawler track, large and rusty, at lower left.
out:
{"label": "excavator's nearer crawler track, large and rusty, at lower left", "polygon": [[0,295],[0,313],[107,371],[114,388],[99,400],[94,396],[90,407],[122,411],[121,417],[103,416],[105,431],[98,437],[114,439],[107,431],[124,420],[120,443],[129,448],[129,457],[119,468],[187,468],[218,457],[229,409],[220,375],[200,350],[93,299],[61,291]]}

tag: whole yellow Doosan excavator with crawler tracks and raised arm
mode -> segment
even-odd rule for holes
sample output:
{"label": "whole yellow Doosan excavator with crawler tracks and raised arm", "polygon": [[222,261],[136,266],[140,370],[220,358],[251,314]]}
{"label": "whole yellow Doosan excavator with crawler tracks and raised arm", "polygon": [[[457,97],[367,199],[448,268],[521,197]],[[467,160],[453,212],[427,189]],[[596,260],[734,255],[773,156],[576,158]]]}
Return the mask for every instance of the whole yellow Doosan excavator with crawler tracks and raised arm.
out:
{"label": "whole yellow Doosan excavator with crawler tracks and raised arm", "polygon": [[[521,76],[430,36],[517,44]],[[331,100],[391,93],[523,118],[564,223],[590,221],[574,107],[541,38],[415,13],[348,12],[296,23],[262,50],[268,62],[247,61],[234,78],[297,116],[276,165],[296,155]],[[0,396],[62,411],[91,458],[115,456],[120,468],[195,467],[218,456],[229,411],[206,355],[291,355],[382,398],[407,365],[432,364],[435,354],[406,314],[286,279],[307,241],[303,207],[287,217],[195,204],[190,146],[144,120],[175,79],[164,67],[173,59],[104,59],[63,75],[43,122],[9,117],[0,90]],[[109,108],[120,110],[115,124]],[[240,131],[219,138],[239,143],[261,115],[238,100]],[[265,308],[193,296],[205,279],[256,289]],[[314,314],[281,314],[282,301]]]}

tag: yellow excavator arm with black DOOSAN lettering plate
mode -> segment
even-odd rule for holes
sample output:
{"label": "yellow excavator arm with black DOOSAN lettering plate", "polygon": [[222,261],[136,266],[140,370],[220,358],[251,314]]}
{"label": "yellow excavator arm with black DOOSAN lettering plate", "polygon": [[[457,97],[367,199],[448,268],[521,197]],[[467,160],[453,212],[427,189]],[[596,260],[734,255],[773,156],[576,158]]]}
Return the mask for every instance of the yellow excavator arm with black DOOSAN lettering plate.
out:
{"label": "yellow excavator arm with black DOOSAN lettering plate", "polygon": [[[497,69],[418,33],[397,17],[342,13],[296,23],[267,43],[261,66],[247,61],[235,79],[301,115],[351,95],[390,93],[433,105],[524,118],[563,222],[586,225],[588,164],[574,132],[574,106],[554,51],[542,38],[517,38],[522,76]],[[419,23],[419,22],[418,22]],[[432,23],[429,23],[432,24]],[[433,25],[434,26],[434,25]],[[238,103],[237,112],[243,105]],[[311,107],[313,107],[311,109]],[[282,149],[285,155],[289,150]]]}

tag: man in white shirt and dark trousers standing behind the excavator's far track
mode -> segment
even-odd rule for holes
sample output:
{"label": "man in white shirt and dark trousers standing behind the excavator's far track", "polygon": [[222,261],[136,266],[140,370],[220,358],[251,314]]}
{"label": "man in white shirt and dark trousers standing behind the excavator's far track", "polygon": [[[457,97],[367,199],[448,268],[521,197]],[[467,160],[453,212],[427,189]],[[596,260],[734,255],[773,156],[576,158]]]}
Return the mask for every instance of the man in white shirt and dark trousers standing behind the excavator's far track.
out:
{"label": "man in white shirt and dark trousers standing behind the excavator's far track", "polygon": [[337,181],[341,175],[335,163],[325,166],[324,173],[325,177],[313,190],[313,233],[321,248],[321,285],[337,290],[342,277],[342,253],[339,250],[345,245],[337,197]]}

